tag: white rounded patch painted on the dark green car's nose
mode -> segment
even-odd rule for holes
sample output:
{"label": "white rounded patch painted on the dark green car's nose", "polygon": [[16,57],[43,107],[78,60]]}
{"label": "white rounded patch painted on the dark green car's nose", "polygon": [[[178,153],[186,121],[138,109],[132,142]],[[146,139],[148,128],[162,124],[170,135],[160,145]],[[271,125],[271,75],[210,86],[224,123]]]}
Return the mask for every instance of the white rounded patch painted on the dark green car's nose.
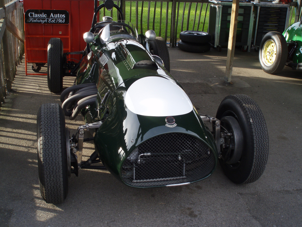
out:
{"label": "white rounded patch painted on the dark green car's nose", "polygon": [[191,100],[175,82],[154,76],[130,85],[125,103],[131,112],[143,116],[177,116],[193,110]]}

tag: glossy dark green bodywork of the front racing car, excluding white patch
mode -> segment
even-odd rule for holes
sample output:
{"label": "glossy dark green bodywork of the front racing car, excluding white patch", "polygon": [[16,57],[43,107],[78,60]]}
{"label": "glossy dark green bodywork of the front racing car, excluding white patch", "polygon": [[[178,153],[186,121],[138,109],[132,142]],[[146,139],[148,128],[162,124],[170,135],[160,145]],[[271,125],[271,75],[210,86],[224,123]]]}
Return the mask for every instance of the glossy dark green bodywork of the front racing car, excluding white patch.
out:
{"label": "glossy dark green bodywork of the front racing car, excluding white patch", "polygon": [[80,66],[76,84],[95,82],[97,85],[97,101],[81,112],[85,123],[103,120],[95,133],[94,143],[106,168],[121,179],[120,169],[127,156],[146,140],[166,133],[185,133],[202,140],[214,153],[216,168],[218,155],[213,135],[195,108],[190,113],[172,116],[177,126],[167,127],[165,118],[168,116],[138,115],[131,112],[124,102],[130,85],[143,77],[165,77],[179,87],[181,85],[156,64],[138,41],[119,39],[101,44],[98,36],[95,40],[97,44],[91,44],[92,52]]}

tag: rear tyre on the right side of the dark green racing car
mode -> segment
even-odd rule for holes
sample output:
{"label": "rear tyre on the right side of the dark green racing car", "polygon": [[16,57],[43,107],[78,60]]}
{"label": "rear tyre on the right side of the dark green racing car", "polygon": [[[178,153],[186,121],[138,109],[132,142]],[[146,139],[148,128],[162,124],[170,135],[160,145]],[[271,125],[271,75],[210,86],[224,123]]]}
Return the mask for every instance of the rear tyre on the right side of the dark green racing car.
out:
{"label": "rear tyre on the right side of the dark green racing car", "polygon": [[165,69],[170,72],[170,56],[167,44],[162,37],[156,37],[154,41],[150,41],[150,53],[159,56],[164,62]]}

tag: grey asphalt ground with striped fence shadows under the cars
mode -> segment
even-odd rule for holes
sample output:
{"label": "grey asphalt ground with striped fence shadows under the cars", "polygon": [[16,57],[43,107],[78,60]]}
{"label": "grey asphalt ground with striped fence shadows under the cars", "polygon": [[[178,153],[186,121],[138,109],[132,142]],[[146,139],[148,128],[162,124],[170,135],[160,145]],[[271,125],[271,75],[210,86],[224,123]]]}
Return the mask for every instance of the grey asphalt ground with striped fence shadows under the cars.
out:
{"label": "grey asphalt ground with striped fence shadows under the cars", "polygon": [[[169,48],[171,74],[199,113],[215,116],[229,94],[247,94],[262,109],[269,156],[259,180],[236,185],[220,166],[198,183],[151,189],[125,186],[107,171],[80,170],[69,178],[59,205],[43,201],[37,168],[36,117],[43,103],[59,103],[46,76],[18,67],[0,111],[0,226],[302,226],[302,74],[289,68],[263,72],[258,53],[235,51],[232,84],[225,84],[227,50],[193,54]],[[43,67],[43,71],[46,67]],[[74,78],[64,77],[64,87]],[[171,94],[173,97],[173,94]],[[66,120],[75,130],[81,117]],[[84,144],[84,158],[93,144]]]}

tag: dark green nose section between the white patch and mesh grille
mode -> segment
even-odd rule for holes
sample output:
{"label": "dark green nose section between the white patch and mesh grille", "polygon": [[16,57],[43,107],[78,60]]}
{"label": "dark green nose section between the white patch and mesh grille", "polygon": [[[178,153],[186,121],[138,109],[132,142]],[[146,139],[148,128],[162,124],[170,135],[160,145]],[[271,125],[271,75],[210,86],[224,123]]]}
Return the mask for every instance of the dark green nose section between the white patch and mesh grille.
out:
{"label": "dark green nose section between the white patch and mesh grille", "polygon": [[213,136],[195,109],[184,115],[172,116],[177,122],[177,126],[173,128],[165,126],[166,116],[142,116],[128,110],[124,100],[127,88],[132,83],[133,81],[126,81],[115,90],[111,97],[110,114],[95,135],[95,148],[112,174],[120,179],[120,168],[127,156],[146,140],[166,133],[185,133],[202,140],[217,159]]}

